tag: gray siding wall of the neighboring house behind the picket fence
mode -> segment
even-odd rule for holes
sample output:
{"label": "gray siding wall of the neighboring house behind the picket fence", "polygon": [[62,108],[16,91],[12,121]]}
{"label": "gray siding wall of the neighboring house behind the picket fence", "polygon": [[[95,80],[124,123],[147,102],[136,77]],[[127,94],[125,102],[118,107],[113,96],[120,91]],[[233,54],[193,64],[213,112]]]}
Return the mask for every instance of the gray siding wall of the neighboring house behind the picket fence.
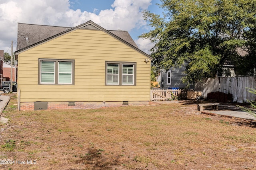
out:
{"label": "gray siding wall of the neighboring house behind the picket fence", "polygon": [[[166,70],[162,70],[160,76],[161,77],[161,89],[167,89],[167,88],[186,88],[186,84],[184,84],[182,82],[182,77],[186,76],[186,74],[184,74],[184,71],[186,70],[186,64],[182,64],[180,67],[178,68],[170,68],[171,70],[171,84],[167,84],[167,71]],[[191,88],[194,88],[194,86],[191,86]]]}

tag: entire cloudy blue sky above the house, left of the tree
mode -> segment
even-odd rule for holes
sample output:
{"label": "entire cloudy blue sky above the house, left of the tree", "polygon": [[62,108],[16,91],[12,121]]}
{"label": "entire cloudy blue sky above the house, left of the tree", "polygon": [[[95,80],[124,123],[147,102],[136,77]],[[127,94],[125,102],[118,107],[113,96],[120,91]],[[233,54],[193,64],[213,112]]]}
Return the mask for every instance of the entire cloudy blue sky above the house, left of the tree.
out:
{"label": "entire cloudy blue sky above the house, left of the tree", "polygon": [[160,0],[0,0],[0,50],[17,45],[17,23],[75,27],[88,20],[108,30],[126,30],[149,53],[152,43],[138,38],[150,30],[142,11],[162,14]]}

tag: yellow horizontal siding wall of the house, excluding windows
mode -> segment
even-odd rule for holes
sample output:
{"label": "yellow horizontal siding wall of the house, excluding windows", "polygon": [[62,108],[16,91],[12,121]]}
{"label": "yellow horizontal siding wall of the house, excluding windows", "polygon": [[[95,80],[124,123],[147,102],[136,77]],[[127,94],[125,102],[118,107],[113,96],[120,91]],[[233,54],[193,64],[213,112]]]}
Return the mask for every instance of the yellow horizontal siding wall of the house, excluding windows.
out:
{"label": "yellow horizontal siding wall of the house, excluding windows", "polygon": [[[38,85],[38,59],[74,59],[74,85]],[[104,31],[78,29],[18,55],[22,102],[149,101],[147,57]],[[136,62],[136,86],[105,86],[105,61]]]}

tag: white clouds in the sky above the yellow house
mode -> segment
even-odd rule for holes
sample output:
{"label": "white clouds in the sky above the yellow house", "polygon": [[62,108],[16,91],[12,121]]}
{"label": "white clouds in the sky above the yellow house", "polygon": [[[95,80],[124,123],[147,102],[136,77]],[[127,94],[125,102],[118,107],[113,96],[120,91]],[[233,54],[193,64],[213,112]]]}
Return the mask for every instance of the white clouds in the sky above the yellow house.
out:
{"label": "white clouds in the sky above the yellow house", "polygon": [[[130,31],[146,25],[141,11],[150,5],[151,0],[115,0],[113,9],[97,15],[97,9],[94,13],[70,9],[69,0],[0,0],[0,50],[7,51],[17,40],[18,22],[74,27],[92,20],[105,29]],[[138,43],[147,42],[138,39]]]}

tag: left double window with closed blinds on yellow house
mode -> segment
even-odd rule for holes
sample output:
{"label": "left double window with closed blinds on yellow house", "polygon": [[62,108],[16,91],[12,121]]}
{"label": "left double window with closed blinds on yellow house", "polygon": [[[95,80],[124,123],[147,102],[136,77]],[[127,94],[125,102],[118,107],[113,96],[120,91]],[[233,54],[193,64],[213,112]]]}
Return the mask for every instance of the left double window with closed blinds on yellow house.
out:
{"label": "left double window with closed blinds on yellow house", "polygon": [[39,59],[38,84],[74,84],[74,60]]}

